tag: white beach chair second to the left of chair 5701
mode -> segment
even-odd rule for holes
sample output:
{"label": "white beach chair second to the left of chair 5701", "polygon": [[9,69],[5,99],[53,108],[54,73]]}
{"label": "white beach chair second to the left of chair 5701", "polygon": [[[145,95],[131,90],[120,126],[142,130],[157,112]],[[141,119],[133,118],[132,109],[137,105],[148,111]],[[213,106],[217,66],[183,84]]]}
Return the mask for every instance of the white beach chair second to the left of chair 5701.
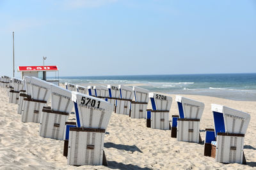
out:
{"label": "white beach chair second to the left of chair 5701", "polygon": [[[26,81],[26,87],[27,83],[28,81]],[[31,77],[29,86],[31,98],[27,97],[23,99],[21,122],[40,123],[42,110],[46,106],[47,101],[49,101],[51,83]]]}

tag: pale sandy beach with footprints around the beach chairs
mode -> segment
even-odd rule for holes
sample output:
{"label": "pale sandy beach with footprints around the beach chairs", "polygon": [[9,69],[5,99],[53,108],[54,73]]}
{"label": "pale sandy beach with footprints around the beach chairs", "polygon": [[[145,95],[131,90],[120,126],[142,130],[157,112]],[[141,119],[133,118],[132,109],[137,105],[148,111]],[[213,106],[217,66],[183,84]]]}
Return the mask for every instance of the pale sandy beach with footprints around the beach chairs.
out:
{"label": "pale sandy beach with footprints around the beach chairs", "polygon": [[[175,95],[171,96],[170,118],[178,114]],[[39,124],[20,122],[17,104],[8,103],[7,90],[0,89],[0,169],[256,169],[256,102],[183,96],[205,104],[200,122],[203,140],[204,129],[213,128],[211,103],[250,113],[244,140],[247,165],[216,163],[204,156],[203,144],[177,142],[171,131],[147,128],[145,119],[113,113],[104,139],[109,166],[68,166],[63,141],[38,136]]]}

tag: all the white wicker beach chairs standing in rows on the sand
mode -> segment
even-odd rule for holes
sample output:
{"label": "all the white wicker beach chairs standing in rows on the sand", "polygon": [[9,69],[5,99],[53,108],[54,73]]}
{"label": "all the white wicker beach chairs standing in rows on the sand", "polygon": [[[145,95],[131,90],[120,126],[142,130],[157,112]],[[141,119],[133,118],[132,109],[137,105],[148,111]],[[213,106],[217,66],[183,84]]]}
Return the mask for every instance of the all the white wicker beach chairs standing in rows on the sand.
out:
{"label": "all the white wicker beach chairs standing in rows on the sand", "polygon": [[[186,97],[176,96],[179,115],[173,115],[170,121],[172,97],[140,87],[65,83],[63,89],[28,76],[24,80],[4,76],[0,83],[9,89],[10,103],[19,104],[22,122],[39,123],[39,135],[44,138],[64,140],[63,155],[70,165],[108,165],[104,134],[113,111],[145,118],[147,127],[152,129],[171,129],[171,136],[177,141],[202,141],[200,119],[204,103]],[[73,106],[76,122],[68,122]],[[212,115],[214,129],[205,129],[204,155],[214,157],[216,162],[245,164],[244,134],[250,115],[217,104],[212,104]]]}

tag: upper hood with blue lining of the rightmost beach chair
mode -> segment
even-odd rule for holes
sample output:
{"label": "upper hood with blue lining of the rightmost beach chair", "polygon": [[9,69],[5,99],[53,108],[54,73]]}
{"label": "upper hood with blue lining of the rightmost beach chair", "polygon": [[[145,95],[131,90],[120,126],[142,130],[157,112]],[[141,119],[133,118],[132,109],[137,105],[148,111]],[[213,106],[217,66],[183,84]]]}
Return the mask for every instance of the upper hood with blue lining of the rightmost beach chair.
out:
{"label": "upper hood with blue lining of the rightmost beach chair", "polygon": [[234,110],[219,104],[212,104],[215,136],[218,132],[245,134],[251,116],[243,111]]}

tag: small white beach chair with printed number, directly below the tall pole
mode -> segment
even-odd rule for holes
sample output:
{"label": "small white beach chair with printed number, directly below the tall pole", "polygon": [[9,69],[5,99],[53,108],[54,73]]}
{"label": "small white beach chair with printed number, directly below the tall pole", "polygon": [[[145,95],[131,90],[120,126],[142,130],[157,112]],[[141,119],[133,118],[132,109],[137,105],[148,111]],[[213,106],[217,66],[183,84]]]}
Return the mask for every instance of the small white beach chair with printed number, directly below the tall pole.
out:
{"label": "small white beach chair with printed number, directly below the tall pole", "polygon": [[9,91],[9,103],[19,104],[20,90],[24,90],[24,81],[12,78],[12,89]]}

